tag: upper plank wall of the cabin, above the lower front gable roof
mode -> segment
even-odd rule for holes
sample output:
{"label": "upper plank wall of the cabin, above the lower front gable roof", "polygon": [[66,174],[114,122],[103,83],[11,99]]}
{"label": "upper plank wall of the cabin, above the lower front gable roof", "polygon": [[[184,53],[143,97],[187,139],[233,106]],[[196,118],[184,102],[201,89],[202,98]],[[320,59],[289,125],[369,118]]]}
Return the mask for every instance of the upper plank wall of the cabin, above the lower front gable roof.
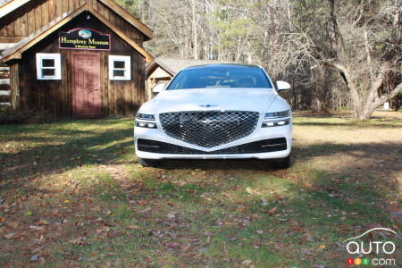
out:
{"label": "upper plank wall of the cabin, above the lower front gable roof", "polygon": [[35,0],[22,5],[17,10],[0,19],[0,43],[16,43],[28,37],[63,13],[71,13],[82,4],[88,3],[129,38],[143,46],[144,36],[129,22],[97,0]]}

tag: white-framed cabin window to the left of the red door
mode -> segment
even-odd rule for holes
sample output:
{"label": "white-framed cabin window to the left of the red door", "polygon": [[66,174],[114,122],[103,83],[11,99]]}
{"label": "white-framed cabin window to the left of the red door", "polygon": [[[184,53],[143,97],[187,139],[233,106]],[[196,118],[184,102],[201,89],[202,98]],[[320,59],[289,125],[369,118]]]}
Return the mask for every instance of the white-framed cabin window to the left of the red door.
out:
{"label": "white-framed cabin window to the left of the red door", "polygon": [[60,54],[37,53],[37,77],[38,80],[61,80]]}

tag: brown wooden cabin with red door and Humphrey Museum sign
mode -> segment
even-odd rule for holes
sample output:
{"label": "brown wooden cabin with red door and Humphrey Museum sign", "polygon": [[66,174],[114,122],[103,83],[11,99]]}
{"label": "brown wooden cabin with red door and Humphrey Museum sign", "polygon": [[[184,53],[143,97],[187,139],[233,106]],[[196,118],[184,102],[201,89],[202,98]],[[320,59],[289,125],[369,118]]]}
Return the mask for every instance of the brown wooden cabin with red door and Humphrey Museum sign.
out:
{"label": "brown wooden cabin with red door and Humphrey Museum sign", "polygon": [[133,115],[147,99],[153,31],[113,0],[3,2],[0,103],[97,118]]}

